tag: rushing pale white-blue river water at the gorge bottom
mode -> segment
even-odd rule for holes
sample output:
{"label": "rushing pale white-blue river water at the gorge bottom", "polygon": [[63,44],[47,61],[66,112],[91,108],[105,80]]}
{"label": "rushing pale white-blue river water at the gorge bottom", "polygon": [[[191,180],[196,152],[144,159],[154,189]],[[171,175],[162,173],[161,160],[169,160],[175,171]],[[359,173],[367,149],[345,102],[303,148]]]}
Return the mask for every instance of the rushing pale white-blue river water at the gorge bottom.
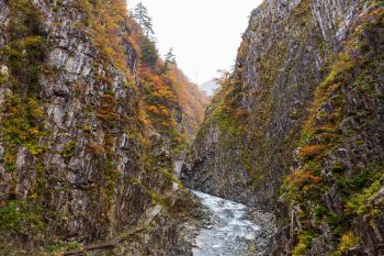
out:
{"label": "rushing pale white-blue river water at the gorge bottom", "polygon": [[194,256],[264,255],[271,227],[266,231],[261,226],[266,226],[262,222],[268,222],[268,218],[261,216],[257,223],[251,209],[244,204],[199,191],[193,193],[208,209],[211,218],[210,224],[195,238]]}

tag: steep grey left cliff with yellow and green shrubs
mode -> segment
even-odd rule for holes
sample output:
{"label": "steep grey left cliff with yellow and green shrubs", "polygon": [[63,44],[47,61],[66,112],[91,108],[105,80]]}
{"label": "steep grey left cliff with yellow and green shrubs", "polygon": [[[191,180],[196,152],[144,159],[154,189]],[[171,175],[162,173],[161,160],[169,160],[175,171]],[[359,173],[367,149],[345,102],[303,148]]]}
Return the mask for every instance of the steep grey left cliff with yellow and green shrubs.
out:
{"label": "steep grey left cliff with yellow and green shrubs", "polygon": [[154,246],[133,254],[189,253],[169,218],[188,215],[174,208],[188,196],[172,190],[169,153],[184,111],[165,107],[174,134],[146,112],[153,92],[126,13],[124,1],[0,0],[0,254],[112,240],[154,204]]}

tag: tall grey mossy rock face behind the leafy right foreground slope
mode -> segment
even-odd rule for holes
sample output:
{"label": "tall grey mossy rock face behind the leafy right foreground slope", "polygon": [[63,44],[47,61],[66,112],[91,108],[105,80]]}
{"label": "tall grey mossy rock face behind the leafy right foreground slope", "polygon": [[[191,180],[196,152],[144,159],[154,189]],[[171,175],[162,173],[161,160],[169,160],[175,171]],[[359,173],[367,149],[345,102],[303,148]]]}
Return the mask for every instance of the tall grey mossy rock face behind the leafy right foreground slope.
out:
{"label": "tall grey mossy rock face behind the leafy right foreground slope", "polygon": [[[347,4],[347,1],[340,1],[335,8],[345,5],[352,5],[352,2]],[[236,188],[242,190],[241,183],[246,183],[250,186],[248,193],[244,194],[248,203],[249,198],[255,198],[261,204],[273,198],[279,188],[279,182],[275,181],[287,174],[292,164],[292,160],[287,160],[292,159],[292,151],[296,146],[292,142],[297,140],[314,88],[325,76],[326,58],[334,54],[332,45],[337,44],[337,31],[332,25],[336,21],[321,18],[343,19],[348,15],[335,8],[328,8],[324,1],[266,1],[252,12],[239,49],[235,74],[228,81],[233,87],[228,86],[228,90],[233,92],[221,92],[216,96],[217,103],[211,108],[208,121],[195,143],[197,148],[192,151],[192,159],[215,154],[207,159],[215,164],[205,165],[203,160],[202,167],[192,168],[193,175],[199,175],[205,167],[214,177],[219,176],[219,179],[231,179],[230,174],[235,172],[239,176],[236,180],[240,183],[223,185],[224,190],[234,190],[229,194],[241,194]],[[331,14],[334,10],[339,14]],[[230,113],[237,110],[241,112],[241,116]],[[211,116],[213,122],[210,122]],[[225,124],[225,118],[234,119],[234,130],[242,130],[230,131],[236,135],[240,134],[239,136],[230,136],[225,127],[217,125]],[[218,153],[222,147],[216,145],[221,142],[229,151]],[[199,148],[201,146],[205,148]],[[235,164],[223,168],[223,165],[231,165],[227,159],[234,159],[229,163]],[[215,166],[214,170],[212,166]],[[262,180],[253,182],[253,174],[257,176],[255,178]],[[233,182],[228,180],[225,183]],[[259,185],[262,190],[255,188]],[[212,190],[226,193],[213,187]],[[260,191],[257,197],[249,197],[257,191]]]}

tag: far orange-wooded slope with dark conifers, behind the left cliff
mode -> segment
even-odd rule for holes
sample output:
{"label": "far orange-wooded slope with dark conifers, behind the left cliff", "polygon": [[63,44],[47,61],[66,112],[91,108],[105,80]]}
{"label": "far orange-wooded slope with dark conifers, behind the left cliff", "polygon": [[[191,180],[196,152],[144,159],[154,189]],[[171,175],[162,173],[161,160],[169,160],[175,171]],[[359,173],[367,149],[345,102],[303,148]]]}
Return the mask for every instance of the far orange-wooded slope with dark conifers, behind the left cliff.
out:
{"label": "far orange-wooded slope with dark conifers, behind the left cliff", "polygon": [[[187,145],[203,122],[208,98],[190,82],[176,62],[159,57],[153,38],[131,20],[132,38],[139,48],[139,88],[149,123],[168,137],[173,149]],[[178,151],[177,149],[177,151]]]}

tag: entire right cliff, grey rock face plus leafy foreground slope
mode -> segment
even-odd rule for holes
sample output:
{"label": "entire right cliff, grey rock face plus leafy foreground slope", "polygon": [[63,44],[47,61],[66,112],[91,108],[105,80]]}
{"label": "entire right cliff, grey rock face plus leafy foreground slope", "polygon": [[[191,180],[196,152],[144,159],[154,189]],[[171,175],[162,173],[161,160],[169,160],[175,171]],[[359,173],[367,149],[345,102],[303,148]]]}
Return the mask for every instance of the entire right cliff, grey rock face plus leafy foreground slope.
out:
{"label": "entire right cliff, grey rock face plus leafy foreground slope", "polygon": [[189,187],[275,211],[275,254],[382,253],[382,5],[264,1],[187,157]]}

